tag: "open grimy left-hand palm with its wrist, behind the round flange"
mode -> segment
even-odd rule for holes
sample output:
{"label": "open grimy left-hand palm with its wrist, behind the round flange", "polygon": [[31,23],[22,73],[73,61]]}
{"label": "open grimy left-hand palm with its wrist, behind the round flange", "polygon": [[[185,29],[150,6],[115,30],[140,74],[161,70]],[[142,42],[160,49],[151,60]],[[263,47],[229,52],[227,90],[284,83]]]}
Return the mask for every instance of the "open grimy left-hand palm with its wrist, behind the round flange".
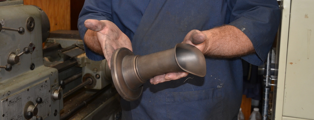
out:
{"label": "open grimy left-hand palm with its wrist, behind the round flange", "polygon": [[114,50],[125,47],[132,51],[130,39],[111,21],[86,20],[84,25],[89,30],[84,36],[85,44],[93,51],[103,54],[110,68]]}

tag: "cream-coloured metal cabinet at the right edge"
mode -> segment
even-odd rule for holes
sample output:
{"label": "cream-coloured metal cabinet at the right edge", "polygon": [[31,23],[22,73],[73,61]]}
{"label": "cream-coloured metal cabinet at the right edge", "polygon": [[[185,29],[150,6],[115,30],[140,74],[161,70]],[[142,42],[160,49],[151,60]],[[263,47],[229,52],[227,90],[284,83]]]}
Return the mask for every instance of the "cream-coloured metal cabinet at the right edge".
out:
{"label": "cream-coloured metal cabinet at the right edge", "polygon": [[284,0],[275,119],[314,119],[314,0]]}

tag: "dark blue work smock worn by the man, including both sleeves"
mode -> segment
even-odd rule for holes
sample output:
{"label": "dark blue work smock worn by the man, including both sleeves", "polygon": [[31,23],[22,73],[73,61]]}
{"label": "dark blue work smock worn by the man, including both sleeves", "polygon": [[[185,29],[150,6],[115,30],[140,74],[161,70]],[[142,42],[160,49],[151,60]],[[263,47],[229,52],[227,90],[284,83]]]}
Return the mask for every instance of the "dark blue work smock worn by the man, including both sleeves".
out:
{"label": "dark blue work smock worn by the man, including both sleeves", "polygon": [[[236,26],[256,51],[241,58],[262,65],[278,30],[280,11],[276,0],[85,0],[78,19],[82,39],[87,19],[114,22],[132,41],[135,55],[173,48],[193,29]],[[85,48],[89,59],[105,59]],[[143,84],[138,100],[122,99],[122,118],[236,120],[242,97],[241,58],[206,56],[205,77],[189,74],[157,85]]]}

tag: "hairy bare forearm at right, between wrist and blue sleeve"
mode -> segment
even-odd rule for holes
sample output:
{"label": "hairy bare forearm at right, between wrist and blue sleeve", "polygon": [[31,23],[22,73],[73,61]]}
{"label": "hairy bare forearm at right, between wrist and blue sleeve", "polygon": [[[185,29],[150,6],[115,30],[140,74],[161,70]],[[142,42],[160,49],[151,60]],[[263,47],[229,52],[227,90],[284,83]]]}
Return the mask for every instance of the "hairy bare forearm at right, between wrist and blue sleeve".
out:
{"label": "hairy bare forearm at right, between wrist and blue sleeve", "polygon": [[203,53],[219,58],[240,57],[255,52],[250,39],[235,26],[220,26],[202,31],[207,37]]}

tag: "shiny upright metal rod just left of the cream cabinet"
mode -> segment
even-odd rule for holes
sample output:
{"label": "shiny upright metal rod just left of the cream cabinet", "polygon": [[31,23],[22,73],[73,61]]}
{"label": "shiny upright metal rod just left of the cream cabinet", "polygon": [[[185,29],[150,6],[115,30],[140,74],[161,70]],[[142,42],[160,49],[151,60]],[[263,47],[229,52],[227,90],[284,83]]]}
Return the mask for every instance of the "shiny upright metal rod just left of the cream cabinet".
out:
{"label": "shiny upright metal rod just left of the cream cabinet", "polygon": [[270,76],[271,76],[271,59],[272,59],[272,50],[268,52],[265,72],[264,72],[264,81],[263,81],[263,103],[262,103],[262,119],[268,119],[268,108],[269,108],[269,91],[270,91]]}

